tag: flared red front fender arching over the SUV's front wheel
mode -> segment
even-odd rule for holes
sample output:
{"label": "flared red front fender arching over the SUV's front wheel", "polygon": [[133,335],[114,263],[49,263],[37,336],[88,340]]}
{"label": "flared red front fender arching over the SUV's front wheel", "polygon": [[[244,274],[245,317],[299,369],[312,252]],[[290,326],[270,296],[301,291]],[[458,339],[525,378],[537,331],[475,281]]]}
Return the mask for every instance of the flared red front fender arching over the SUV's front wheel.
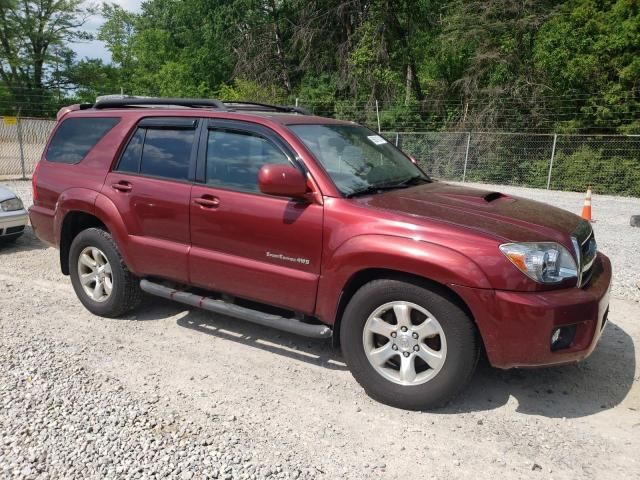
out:
{"label": "flared red front fender arching over the SUV's front wheel", "polygon": [[323,261],[316,315],[335,322],[340,295],[360,271],[384,269],[409,273],[445,285],[491,288],[469,257],[442,245],[391,235],[361,235],[344,242]]}

